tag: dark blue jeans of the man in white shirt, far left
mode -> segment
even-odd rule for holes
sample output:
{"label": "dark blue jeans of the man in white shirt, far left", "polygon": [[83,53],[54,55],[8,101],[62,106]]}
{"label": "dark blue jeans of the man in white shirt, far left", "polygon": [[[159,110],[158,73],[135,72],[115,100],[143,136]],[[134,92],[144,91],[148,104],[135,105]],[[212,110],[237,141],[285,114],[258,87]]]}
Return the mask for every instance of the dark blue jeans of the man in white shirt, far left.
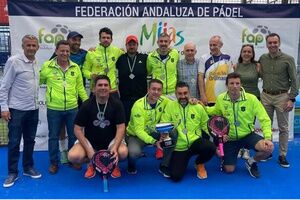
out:
{"label": "dark blue jeans of the man in white shirt, far left", "polygon": [[39,119],[38,110],[21,111],[10,109],[11,119],[8,122],[8,173],[18,174],[20,142],[23,134],[23,169],[33,167],[33,149]]}

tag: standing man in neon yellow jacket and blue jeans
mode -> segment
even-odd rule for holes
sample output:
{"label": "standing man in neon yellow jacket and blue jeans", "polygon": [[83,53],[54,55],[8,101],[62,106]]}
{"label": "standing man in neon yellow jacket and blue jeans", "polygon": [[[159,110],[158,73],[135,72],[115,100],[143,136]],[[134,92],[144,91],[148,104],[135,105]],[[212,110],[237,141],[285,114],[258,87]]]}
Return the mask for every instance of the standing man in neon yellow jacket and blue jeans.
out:
{"label": "standing man in neon yellow jacket and blue jeans", "polygon": [[47,121],[49,129],[49,172],[58,171],[59,133],[64,122],[68,133],[68,149],[75,142],[73,122],[77,113],[78,97],[88,99],[79,66],[70,57],[70,45],[61,40],[56,45],[56,58],[46,61],[40,70],[40,84],[47,85]]}

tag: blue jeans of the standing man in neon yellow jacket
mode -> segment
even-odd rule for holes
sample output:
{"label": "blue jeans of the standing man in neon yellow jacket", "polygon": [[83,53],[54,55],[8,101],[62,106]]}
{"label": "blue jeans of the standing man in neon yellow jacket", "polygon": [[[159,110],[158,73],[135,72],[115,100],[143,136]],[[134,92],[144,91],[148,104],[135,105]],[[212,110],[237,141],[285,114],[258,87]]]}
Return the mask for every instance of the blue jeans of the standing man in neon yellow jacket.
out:
{"label": "blue jeans of the standing man in neon yellow jacket", "polygon": [[69,150],[75,142],[74,120],[77,110],[77,108],[66,111],[47,109],[49,129],[48,150],[51,164],[57,165],[59,163],[59,134],[63,123],[65,123],[67,127]]}

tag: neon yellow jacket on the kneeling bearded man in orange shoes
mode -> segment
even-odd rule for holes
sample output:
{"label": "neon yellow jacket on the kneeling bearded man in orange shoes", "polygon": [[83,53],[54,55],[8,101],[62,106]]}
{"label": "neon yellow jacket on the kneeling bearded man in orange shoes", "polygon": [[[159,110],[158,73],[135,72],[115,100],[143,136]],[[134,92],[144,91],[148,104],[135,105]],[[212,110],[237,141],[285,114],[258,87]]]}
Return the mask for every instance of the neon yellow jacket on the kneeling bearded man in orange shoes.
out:
{"label": "neon yellow jacket on the kneeling bearded man in orange shoes", "polygon": [[[188,104],[183,108],[178,101],[170,102],[161,117],[161,122],[172,122],[178,132],[176,151],[186,151],[207,130],[208,115],[202,105]],[[185,131],[186,130],[186,131]]]}

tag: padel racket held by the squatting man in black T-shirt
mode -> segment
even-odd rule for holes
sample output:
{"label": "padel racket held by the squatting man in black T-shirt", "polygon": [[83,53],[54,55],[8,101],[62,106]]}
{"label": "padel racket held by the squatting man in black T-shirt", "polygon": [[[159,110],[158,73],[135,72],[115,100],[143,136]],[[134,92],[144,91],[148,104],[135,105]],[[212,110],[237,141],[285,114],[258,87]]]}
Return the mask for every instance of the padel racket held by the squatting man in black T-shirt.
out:
{"label": "padel racket held by the squatting man in black T-shirt", "polygon": [[92,164],[103,179],[103,191],[108,192],[108,177],[115,168],[115,159],[108,150],[96,152],[92,158]]}

